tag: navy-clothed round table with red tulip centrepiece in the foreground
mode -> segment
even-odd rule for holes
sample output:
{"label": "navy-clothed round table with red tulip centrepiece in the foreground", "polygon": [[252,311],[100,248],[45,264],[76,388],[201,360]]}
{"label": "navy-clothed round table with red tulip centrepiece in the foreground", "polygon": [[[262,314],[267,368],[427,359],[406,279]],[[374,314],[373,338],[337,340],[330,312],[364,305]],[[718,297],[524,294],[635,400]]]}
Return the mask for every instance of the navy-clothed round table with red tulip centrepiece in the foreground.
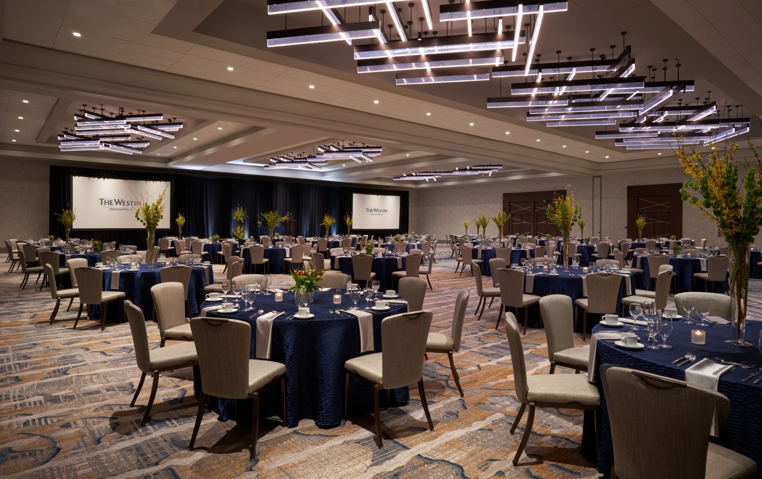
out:
{"label": "navy-clothed round table with red tulip centrepiece in the foreground", "polygon": [[[309,304],[312,319],[287,319],[296,313],[296,303],[293,292],[283,293],[283,302],[275,302],[274,295],[258,294],[254,308],[264,311],[285,311],[284,315],[272,323],[271,360],[286,365],[286,424],[289,427],[299,426],[299,420],[312,419],[319,427],[335,427],[341,425],[344,415],[344,362],[357,356],[381,352],[381,321],[391,315],[408,311],[405,304],[389,304],[387,311],[367,312],[373,315],[373,350],[360,352],[360,327],[354,316],[336,315],[329,310],[333,308],[349,309],[353,307],[349,295],[341,294],[341,305],[333,303],[333,295],[338,290],[315,292],[314,302]],[[399,298],[402,299],[402,298]],[[202,307],[219,305],[219,302],[205,302]],[[357,304],[365,306],[365,300]],[[251,350],[249,358],[262,359],[256,356],[257,318],[251,318],[253,311],[243,311],[223,314],[219,311],[207,311],[208,317],[235,318],[251,324]],[[198,366],[196,366],[197,368]],[[200,378],[194,368],[194,388],[196,394],[201,391]],[[404,404],[409,399],[408,388],[397,388],[389,391],[391,404]],[[360,379],[350,378],[350,414],[354,411],[363,413],[373,410],[373,387]],[[382,394],[386,401],[386,394]],[[232,399],[210,397],[213,410],[219,413],[220,420],[235,417],[235,404]],[[239,420],[251,427],[251,399],[239,400]],[[277,385],[260,396],[260,413],[267,417],[271,414],[280,417],[282,402],[280,387]],[[246,417],[248,414],[248,417]]]}

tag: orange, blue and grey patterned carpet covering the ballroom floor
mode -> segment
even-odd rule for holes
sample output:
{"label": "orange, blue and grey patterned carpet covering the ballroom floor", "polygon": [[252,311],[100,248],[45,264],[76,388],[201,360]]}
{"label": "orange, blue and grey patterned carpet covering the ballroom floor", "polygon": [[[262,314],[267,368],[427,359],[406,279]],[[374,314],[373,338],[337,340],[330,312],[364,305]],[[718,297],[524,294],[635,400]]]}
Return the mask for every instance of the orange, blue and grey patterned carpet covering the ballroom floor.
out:
{"label": "orange, blue and grey patterned carpet covering the ballroom floor", "polygon": [[[197,400],[191,369],[162,375],[152,421],[139,426],[148,391],[129,407],[139,379],[126,324],[48,324],[54,301],[33,283],[18,289],[21,273],[0,273],[0,475],[3,477],[597,477],[581,458],[581,412],[538,410],[522,463],[511,465],[523,433],[508,433],[517,411],[504,327],[495,331],[498,303],[482,321],[472,314],[478,299],[467,274],[453,275],[450,252],[439,254],[426,308],[432,330],[450,326],[456,292],[472,292],[456,354],[465,398],[450,382],[445,355],[430,355],[424,385],[435,431],[425,427],[418,389],[406,407],[381,414],[385,448],[373,442],[373,417],[350,417],[322,430],[310,420],[287,429],[260,423],[258,455],[248,461],[251,424],[236,427],[208,413],[194,452],[187,451]],[[221,266],[215,271],[220,274]],[[288,276],[279,276],[278,286]],[[759,317],[762,283],[752,282],[753,314]],[[751,303],[751,301],[750,301]],[[76,308],[59,313],[75,317]],[[87,323],[88,321],[85,321]],[[82,324],[82,322],[80,323]],[[158,346],[158,330],[149,323]],[[523,337],[527,372],[548,371],[545,335]],[[580,338],[578,344],[582,344]],[[571,372],[562,370],[562,372]],[[522,423],[523,424],[523,423]]]}

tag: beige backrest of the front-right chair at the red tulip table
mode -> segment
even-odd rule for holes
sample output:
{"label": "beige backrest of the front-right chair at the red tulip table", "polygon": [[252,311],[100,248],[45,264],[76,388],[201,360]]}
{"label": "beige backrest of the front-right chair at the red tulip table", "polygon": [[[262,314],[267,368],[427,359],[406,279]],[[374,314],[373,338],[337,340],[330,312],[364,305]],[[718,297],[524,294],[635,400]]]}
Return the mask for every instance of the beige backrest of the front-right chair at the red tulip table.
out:
{"label": "beige backrest of the front-right chair at the red tulip table", "polygon": [[431,311],[393,315],[381,321],[381,370],[385,389],[415,384],[423,377]]}

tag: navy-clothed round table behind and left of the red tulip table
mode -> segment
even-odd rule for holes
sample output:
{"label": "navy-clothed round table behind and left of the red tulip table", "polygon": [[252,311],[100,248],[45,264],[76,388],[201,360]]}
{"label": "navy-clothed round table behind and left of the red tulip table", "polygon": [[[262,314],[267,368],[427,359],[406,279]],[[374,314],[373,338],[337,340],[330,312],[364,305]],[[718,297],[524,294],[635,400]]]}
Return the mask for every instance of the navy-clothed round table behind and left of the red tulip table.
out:
{"label": "navy-clothed round table behind and left of the red tulip table", "polygon": [[[159,270],[164,266],[156,263],[154,268],[149,268],[147,264],[141,264],[137,271],[130,271],[128,268],[119,267],[117,270],[103,271],[103,290],[121,291],[126,294],[136,306],[142,309],[146,320],[153,319],[153,299],[151,297],[151,286],[162,283]],[[114,273],[118,271],[119,284],[113,283]],[[194,266],[191,270],[191,281],[188,283],[188,300],[191,303],[191,312],[198,313],[198,307],[205,299],[203,287],[214,282],[214,273],[212,265]],[[101,308],[91,307],[91,319],[101,321]],[[108,305],[107,322],[123,322],[122,302],[117,301]]]}

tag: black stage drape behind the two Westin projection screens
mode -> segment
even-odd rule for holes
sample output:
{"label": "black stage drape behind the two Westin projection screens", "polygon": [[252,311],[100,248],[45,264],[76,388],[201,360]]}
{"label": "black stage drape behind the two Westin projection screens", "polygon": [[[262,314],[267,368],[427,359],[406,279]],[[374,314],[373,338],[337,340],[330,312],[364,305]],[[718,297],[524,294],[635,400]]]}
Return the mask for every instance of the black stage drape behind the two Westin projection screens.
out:
{"label": "black stage drape behind the two Westin projection screens", "polygon": [[[296,235],[325,235],[321,225],[325,213],[336,219],[331,234],[347,232],[344,215],[352,211],[352,193],[399,195],[399,225],[396,230],[363,230],[357,233],[383,238],[407,232],[408,192],[402,190],[379,190],[335,184],[274,181],[261,178],[208,177],[200,174],[174,174],[164,171],[121,171],[94,168],[50,166],[50,235],[63,238],[64,228],[56,212],[71,204],[72,176],[114,178],[120,180],[167,181],[171,183],[169,209],[165,215],[171,219],[171,230],[156,232],[157,238],[177,235],[174,218],[182,212],[186,218],[184,235],[207,238],[211,235],[229,237],[235,222],[231,211],[241,205],[248,212],[246,228],[251,232],[257,226],[260,212],[277,209],[280,214],[290,212],[296,220]],[[250,233],[251,234],[251,233]],[[117,241],[117,244],[135,244],[146,247],[146,232],[138,229],[84,230],[74,229],[74,238],[98,238],[101,241]]]}

